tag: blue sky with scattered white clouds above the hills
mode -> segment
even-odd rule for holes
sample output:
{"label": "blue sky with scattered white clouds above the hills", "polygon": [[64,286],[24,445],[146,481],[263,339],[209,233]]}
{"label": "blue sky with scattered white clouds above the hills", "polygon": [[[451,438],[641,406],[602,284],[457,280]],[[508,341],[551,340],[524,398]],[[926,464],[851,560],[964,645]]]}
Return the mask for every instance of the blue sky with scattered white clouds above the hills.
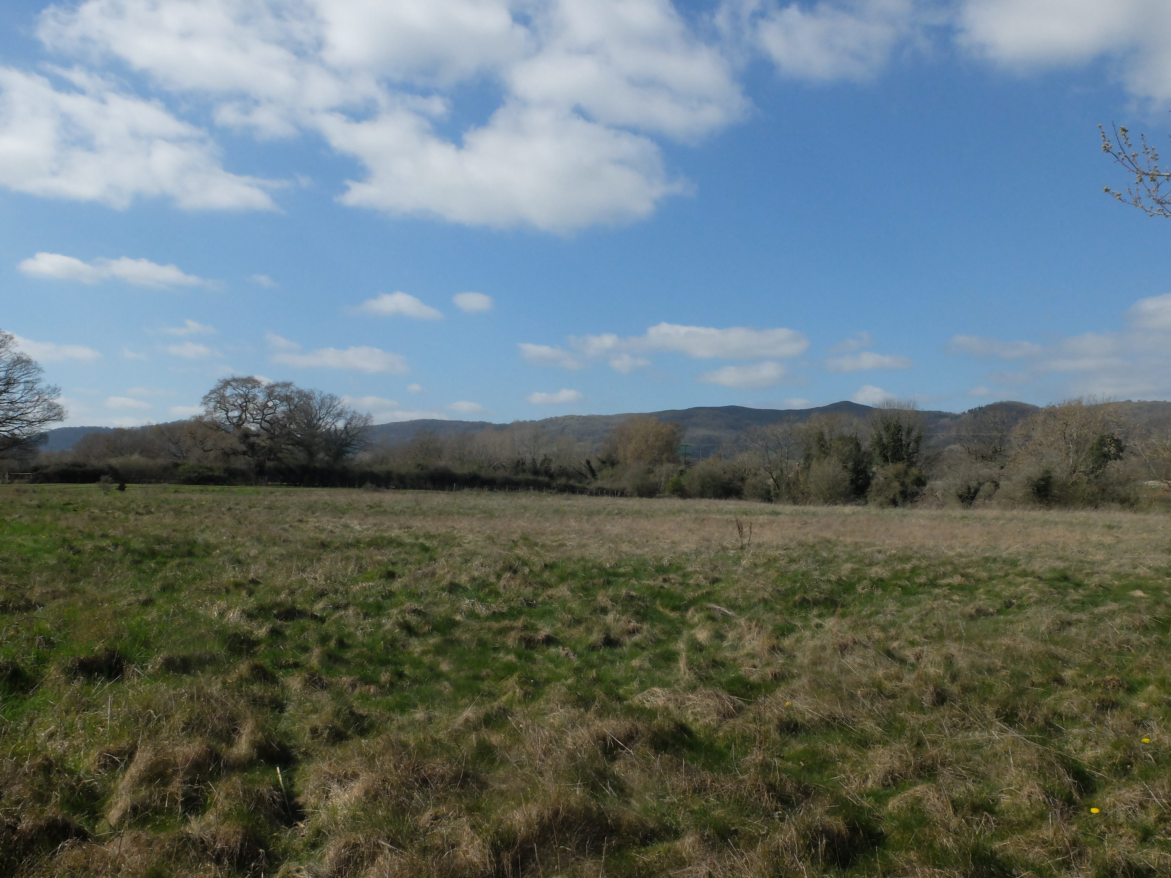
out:
{"label": "blue sky with scattered white clouds above the hills", "polygon": [[[68,425],[1171,398],[1166,0],[0,5],[0,329]],[[1171,151],[1167,153],[1171,156]]]}

